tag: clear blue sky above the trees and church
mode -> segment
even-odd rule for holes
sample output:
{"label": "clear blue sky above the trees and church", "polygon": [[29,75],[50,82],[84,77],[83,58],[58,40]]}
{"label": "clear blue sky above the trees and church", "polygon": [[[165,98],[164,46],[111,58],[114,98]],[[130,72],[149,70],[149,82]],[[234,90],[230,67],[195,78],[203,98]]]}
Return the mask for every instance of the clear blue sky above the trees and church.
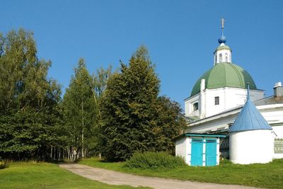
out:
{"label": "clear blue sky above the trees and church", "polygon": [[283,1],[1,1],[0,33],[34,32],[38,57],[50,59],[49,76],[66,88],[80,57],[92,73],[119,67],[146,45],[161,94],[178,101],[213,67],[225,18],[232,61],[255,84],[273,93],[283,81]]}

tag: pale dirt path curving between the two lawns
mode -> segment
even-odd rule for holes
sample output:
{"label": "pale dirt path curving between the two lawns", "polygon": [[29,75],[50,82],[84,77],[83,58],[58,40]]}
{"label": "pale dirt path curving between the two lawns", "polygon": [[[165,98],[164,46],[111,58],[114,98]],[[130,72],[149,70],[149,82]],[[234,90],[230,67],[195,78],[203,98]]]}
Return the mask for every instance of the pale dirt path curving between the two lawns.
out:
{"label": "pale dirt path curving between the two lawns", "polygon": [[103,168],[93,168],[90,166],[80,164],[60,164],[62,168],[76,173],[80,176],[89,178],[91,180],[100,181],[110,185],[132,185],[132,186],[148,186],[151,188],[215,188],[215,189],[230,189],[230,188],[252,188],[241,185],[221,185],[214,183],[198,183],[191,181],[178,181],[167,178],[156,178],[146,176],[134,176],[127,173],[120,173],[117,171],[110,171]]}

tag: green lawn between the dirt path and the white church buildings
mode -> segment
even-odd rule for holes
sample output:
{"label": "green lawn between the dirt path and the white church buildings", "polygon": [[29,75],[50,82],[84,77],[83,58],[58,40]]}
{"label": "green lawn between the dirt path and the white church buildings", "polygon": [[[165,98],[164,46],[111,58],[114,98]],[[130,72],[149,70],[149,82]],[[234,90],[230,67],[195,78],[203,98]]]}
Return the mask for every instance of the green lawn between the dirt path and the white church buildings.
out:
{"label": "green lawn between the dirt path and the white church buildings", "polygon": [[283,159],[276,159],[270,164],[238,165],[223,161],[219,166],[193,167],[182,166],[173,169],[129,169],[124,163],[105,163],[97,158],[83,159],[79,164],[106,168],[124,173],[142,176],[175,178],[187,181],[249,185],[260,188],[283,188]]}

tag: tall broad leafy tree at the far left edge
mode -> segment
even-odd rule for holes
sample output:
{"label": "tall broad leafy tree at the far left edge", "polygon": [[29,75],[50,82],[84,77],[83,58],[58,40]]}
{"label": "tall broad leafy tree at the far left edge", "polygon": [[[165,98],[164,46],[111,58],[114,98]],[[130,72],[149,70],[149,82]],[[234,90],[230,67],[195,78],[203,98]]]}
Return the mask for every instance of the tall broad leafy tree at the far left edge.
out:
{"label": "tall broad leafy tree at the far left edge", "polygon": [[59,125],[61,87],[47,78],[51,62],[36,54],[33,33],[0,34],[0,156],[45,159],[62,134],[52,132]]}

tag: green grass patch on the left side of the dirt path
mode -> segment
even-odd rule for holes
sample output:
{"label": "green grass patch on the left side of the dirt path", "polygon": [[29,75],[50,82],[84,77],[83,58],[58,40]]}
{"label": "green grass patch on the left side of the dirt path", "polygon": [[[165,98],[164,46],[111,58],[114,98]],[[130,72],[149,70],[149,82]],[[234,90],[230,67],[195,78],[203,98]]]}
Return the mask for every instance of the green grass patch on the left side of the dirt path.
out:
{"label": "green grass patch on the left side of the dirt path", "polygon": [[77,176],[57,164],[13,162],[0,169],[0,188],[132,188],[107,185]]}

